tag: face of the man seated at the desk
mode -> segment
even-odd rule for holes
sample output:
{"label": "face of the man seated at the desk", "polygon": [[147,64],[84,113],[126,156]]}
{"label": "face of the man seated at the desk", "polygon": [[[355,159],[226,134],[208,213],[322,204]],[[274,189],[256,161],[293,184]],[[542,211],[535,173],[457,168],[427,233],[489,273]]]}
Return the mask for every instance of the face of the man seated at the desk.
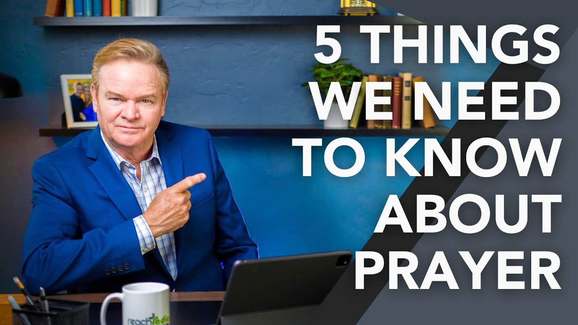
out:
{"label": "face of the man seated at the desk", "polygon": [[94,110],[105,139],[120,149],[149,149],[165,115],[158,69],[151,63],[114,60],[101,67],[98,94],[91,86]]}

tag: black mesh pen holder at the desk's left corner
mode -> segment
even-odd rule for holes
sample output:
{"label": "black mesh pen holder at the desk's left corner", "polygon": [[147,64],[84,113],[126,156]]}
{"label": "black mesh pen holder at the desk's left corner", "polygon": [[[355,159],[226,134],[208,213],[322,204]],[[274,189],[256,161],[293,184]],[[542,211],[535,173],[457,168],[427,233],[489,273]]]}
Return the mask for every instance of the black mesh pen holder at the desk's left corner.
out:
{"label": "black mesh pen holder at the desk's left corner", "polygon": [[[47,299],[50,312],[41,312],[29,305],[12,309],[12,325],[86,325],[89,322],[88,302]],[[38,301],[35,302],[40,309]]]}

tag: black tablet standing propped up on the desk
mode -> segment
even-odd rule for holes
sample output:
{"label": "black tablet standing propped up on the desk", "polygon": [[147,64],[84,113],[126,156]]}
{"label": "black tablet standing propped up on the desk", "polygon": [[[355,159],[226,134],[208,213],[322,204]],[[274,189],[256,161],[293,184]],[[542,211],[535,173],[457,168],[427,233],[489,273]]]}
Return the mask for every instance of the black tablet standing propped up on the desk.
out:
{"label": "black tablet standing propped up on the desk", "polygon": [[236,261],[217,325],[272,322],[284,317],[279,311],[295,321],[295,312],[306,314],[304,307],[323,302],[350,261],[349,251]]}

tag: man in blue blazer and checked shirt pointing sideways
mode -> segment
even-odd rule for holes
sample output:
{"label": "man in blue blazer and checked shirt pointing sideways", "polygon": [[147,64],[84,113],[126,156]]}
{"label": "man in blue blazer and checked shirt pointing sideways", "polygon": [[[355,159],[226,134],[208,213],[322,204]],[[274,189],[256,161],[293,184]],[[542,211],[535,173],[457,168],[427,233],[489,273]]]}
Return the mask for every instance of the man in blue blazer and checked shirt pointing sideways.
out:
{"label": "man in blue blazer and checked shirt pointing sideways", "polygon": [[257,245],[209,133],[161,121],[169,71],[160,51],[116,40],[98,51],[92,80],[99,127],[32,168],[28,290],[112,292],[142,281],[224,290],[232,264],[258,258]]}

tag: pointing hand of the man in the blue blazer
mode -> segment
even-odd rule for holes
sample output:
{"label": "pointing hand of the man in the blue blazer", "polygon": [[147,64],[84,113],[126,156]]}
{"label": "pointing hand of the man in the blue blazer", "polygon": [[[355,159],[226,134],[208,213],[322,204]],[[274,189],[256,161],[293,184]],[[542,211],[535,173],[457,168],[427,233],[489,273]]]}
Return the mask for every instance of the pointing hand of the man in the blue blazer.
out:
{"label": "pointing hand of the man in the blue blazer", "polygon": [[188,176],[154,197],[143,213],[154,238],[175,231],[187,223],[188,210],[191,208],[191,192],[187,190],[205,178],[205,173]]}

